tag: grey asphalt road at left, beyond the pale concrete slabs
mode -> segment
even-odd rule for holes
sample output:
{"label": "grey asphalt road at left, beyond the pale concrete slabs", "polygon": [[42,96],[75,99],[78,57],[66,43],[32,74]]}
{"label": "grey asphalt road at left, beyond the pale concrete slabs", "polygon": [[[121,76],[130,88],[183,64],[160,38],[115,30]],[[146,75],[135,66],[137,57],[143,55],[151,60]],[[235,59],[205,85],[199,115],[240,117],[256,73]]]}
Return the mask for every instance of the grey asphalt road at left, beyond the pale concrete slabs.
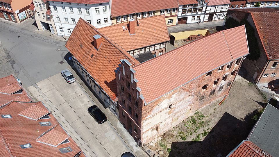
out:
{"label": "grey asphalt road at left, beyond the pale concrete slabs", "polygon": [[[68,50],[66,42],[55,40],[11,24],[0,22],[2,51],[25,88],[53,76],[67,68],[64,59]],[[60,49],[60,50],[58,50]],[[63,61],[63,64],[59,62]],[[10,70],[1,66],[1,71]],[[4,76],[1,76],[4,77]]]}

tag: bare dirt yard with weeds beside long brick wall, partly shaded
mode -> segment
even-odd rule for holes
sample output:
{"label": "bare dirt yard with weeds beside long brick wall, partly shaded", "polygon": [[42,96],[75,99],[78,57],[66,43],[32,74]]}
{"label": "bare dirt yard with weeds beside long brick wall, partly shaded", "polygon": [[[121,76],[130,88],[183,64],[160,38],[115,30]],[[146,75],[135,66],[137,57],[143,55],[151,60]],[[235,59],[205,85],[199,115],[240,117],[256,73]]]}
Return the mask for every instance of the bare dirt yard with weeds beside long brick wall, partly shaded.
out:
{"label": "bare dirt yard with weeds beside long brick wall, partly shaded", "polygon": [[[227,156],[246,140],[255,124],[251,119],[264,98],[241,69],[227,99],[199,109],[147,146],[161,156]],[[245,79],[244,79],[245,78]]]}

